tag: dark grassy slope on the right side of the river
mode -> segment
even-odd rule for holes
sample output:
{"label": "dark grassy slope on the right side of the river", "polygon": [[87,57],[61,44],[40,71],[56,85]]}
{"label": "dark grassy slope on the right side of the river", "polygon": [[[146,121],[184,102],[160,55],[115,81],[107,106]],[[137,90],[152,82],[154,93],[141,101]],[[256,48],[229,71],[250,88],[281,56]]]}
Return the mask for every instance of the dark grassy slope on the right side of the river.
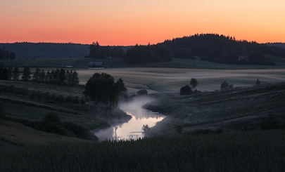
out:
{"label": "dark grassy slope on the right side of the river", "polygon": [[[254,81],[253,81],[254,84]],[[150,135],[182,135],[284,128],[285,83],[245,88],[222,83],[221,91],[161,98],[145,107],[167,115]],[[190,88],[190,87],[189,87]]]}

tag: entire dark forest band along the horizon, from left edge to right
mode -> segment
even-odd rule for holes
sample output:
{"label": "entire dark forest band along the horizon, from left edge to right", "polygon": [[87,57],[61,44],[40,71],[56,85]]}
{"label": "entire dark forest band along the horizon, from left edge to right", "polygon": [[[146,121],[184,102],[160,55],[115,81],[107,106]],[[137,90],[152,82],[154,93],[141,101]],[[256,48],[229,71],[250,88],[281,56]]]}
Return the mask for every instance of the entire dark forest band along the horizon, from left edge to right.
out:
{"label": "entire dark forest band along the horizon, from left edge to right", "polygon": [[[100,46],[92,44],[14,43],[0,44],[0,59],[8,58],[122,58],[125,63],[170,61],[172,58],[236,61],[248,55],[250,61],[263,61],[265,55],[285,58],[284,44],[258,44],[220,34],[195,34],[165,40],[159,44],[136,46]],[[8,52],[13,52],[8,55]],[[16,55],[16,56],[15,56]]]}

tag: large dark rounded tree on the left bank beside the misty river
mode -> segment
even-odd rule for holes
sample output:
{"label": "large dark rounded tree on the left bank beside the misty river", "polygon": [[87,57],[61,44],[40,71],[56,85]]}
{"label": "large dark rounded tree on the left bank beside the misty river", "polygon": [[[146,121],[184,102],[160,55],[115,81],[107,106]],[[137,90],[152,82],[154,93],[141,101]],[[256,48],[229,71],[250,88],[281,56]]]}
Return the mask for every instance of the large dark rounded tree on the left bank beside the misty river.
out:
{"label": "large dark rounded tree on the left bank beside the misty river", "polygon": [[120,83],[114,81],[110,74],[95,73],[87,81],[84,89],[85,97],[89,97],[90,101],[94,102],[97,108],[104,107],[106,110],[113,110],[118,106],[118,98],[122,90],[120,90]]}

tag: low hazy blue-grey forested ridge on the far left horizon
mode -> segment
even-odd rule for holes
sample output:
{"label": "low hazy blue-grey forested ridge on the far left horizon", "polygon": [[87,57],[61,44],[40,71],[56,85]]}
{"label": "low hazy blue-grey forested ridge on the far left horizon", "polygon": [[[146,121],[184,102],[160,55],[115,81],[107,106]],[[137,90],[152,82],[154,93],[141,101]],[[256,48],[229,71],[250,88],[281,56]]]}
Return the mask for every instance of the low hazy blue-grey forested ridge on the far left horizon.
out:
{"label": "low hazy blue-grey forested ridge on the far left horizon", "polygon": [[9,52],[16,54],[16,58],[84,58],[89,53],[87,44],[56,44],[56,43],[0,43]]}

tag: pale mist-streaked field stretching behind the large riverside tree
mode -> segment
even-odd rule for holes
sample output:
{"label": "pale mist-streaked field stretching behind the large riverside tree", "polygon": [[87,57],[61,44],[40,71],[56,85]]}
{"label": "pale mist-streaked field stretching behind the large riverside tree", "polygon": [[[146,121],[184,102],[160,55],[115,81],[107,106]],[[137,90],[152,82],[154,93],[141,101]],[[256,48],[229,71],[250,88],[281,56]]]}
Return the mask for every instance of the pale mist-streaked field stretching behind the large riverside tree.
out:
{"label": "pale mist-streaked field stretching behind the large riverside tree", "polygon": [[115,80],[122,78],[129,93],[146,89],[148,93],[179,93],[191,78],[198,80],[199,91],[220,90],[223,81],[234,86],[253,86],[285,81],[285,69],[209,70],[167,67],[126,67],[101,70],[78,70],[80,84],[84,85],[95,72],[105,72]]}

